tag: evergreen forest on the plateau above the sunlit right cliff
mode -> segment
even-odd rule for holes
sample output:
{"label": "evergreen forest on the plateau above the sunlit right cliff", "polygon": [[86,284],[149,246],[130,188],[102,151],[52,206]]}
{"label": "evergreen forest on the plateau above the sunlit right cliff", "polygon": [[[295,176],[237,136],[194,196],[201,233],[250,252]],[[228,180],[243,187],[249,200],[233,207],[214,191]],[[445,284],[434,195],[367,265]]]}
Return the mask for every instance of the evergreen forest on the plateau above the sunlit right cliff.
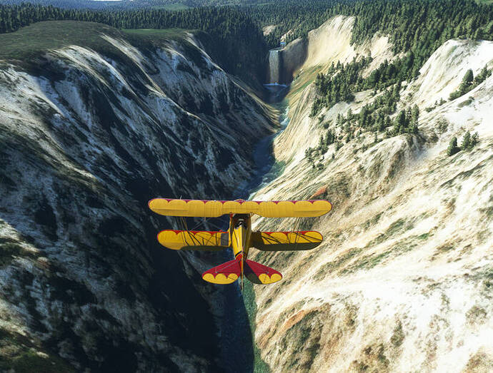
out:
{"label": "evergreen forest on the plateau above the sunlit right cliff", "polygon": [[[277,25],[269,34],[269,46],[277,46],[279,39],[292,30],[287,41],[307,35],[331,16],[356,16],[352,42],[361,42],[378,32],[389,34],[394,52],[411,51],[406,63],[409,76],[416,76],[424,61],[447,39],[492,39],[493,6],[472,0],[418,1],[279,1],[263,6],[249,6],[249,13],[259,24]],[[407,59],[407,58],[406,58]],[[402,61],[399,61],[402,63]],[[394,63],[399,67],[399,63]],[[402,66],[401,66],[402,67]],[[402,71],[397,76],[402,80]]]}

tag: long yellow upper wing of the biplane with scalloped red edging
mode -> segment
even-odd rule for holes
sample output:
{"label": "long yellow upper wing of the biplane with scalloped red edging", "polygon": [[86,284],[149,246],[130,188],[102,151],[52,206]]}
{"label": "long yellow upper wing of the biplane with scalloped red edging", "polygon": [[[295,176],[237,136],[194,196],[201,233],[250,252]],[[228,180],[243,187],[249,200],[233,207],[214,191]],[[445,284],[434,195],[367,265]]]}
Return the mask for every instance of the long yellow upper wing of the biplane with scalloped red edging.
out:
{"label": "long yellow upper wing of the biplane with scalloped red edging", "polygon": [[160,215],[217,218],[225,214],[250,214],[265,218],[321,216],[332,210],[328,200],[174,200],[154,198],[149,208]]}

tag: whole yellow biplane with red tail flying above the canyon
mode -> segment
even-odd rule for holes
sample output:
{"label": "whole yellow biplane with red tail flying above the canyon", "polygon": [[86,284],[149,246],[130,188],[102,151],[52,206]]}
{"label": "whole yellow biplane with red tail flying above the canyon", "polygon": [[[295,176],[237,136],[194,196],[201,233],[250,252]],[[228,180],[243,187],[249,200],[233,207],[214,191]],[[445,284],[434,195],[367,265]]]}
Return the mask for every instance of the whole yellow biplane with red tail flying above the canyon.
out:
{"label": "whole yellow biplane with red tail flying above the canyon", "polygon": [[248,260],[250,247],[263,251],[309,250],[322,242],[315,231],[252,232],[252,214],[265,218],[316,217],[329,213],[328,200],[252,201],[252,200],[175,200],[154,198],[149,208],[160,215],[219,218],[229,215],[227,231],[163,230],[157,235],[161,245],[171,250],[219,251],[231,247],[234,260],[206,270],[202,278],[214,284],[231,284],[243,278],[255,284],[272,284],[282,279],[277,270]]}

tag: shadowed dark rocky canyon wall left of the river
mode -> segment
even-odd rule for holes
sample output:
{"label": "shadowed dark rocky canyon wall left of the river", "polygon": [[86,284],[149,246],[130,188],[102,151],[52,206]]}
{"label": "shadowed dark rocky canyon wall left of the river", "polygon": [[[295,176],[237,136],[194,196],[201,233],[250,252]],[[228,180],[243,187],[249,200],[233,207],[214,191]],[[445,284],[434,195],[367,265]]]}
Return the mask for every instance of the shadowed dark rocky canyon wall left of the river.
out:
{"label": "shadowed dark rocky canyon wall left of the river", "polygon": [[191,34],[100,37],[111,53],[0,61],[2,367],[221,369],[196,271],[221,258],[158,247],[172,222],[146,202],[233,197],[271,113]]}

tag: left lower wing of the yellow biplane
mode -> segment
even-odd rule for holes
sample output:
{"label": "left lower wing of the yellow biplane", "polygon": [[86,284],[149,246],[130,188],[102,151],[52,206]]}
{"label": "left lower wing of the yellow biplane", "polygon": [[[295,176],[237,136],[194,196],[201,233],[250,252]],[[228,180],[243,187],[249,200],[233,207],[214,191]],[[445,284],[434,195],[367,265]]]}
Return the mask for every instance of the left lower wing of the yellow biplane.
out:
{"label": "left lower wing of the yellow biplane", "polygon": [[201,230],[162,230],[157,235],[161,245],[171,250],[219,251],[229,247],[229,233]]}

